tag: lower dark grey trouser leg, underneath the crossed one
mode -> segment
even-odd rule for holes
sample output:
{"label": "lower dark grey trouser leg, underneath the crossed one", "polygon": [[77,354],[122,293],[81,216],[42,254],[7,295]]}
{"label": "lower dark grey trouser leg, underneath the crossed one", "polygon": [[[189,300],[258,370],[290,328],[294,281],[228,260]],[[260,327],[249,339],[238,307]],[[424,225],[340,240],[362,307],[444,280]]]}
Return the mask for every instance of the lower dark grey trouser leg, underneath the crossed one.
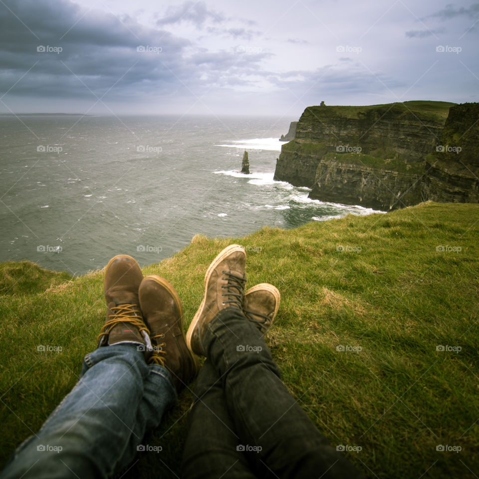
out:
{"label": "lower dark grey trouser leg, underneath the crossed one", "polygon": [[237,451],[240,438],[227,409],[223,382],[209,359],[198,375],[188,424],[183,478],[256,478]]}

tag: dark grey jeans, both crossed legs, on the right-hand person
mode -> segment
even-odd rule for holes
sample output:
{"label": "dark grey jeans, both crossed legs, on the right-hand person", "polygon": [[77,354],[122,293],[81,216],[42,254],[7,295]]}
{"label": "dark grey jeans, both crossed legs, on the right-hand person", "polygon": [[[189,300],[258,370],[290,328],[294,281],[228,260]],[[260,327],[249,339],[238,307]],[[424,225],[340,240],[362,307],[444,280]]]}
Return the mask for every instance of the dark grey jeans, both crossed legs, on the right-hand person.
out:
{"label": "dark grey jeans, both crossed legs, on the right-hand person", "polygon": [[319,433],[280,379],[262,335],[240,310],[205,328],[184,478],[361,477]]}

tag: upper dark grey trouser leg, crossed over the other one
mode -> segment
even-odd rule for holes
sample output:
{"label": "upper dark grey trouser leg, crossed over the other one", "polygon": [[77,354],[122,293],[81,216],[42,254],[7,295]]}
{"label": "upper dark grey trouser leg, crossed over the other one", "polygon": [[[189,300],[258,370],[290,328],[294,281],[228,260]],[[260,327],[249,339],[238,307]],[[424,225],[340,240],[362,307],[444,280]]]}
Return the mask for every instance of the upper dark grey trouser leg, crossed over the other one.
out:
{"label": "upper dark grey trouser leg, crossed over the other one", "polygon": [[239,310],[226,308],[206,326],[203,347],[250,461],[280,478],[359,477],[288,392],[262,335]]}

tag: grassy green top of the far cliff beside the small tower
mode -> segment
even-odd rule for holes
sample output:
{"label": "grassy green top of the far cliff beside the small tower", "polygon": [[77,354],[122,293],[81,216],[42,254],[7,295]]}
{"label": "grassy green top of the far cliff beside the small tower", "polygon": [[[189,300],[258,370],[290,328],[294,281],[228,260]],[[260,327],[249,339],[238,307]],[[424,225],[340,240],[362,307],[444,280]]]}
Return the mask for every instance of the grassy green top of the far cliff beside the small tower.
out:
{"label": "grassy green top of the far cliff beside the small tower", "polygon": [[[322,114],[327,112],[328,114],[334,113],[341,115],[345,118],[359,118],[361,115],[366,114],[372,110],[392,110],[396,113],[408,113],[415,112],[428,117],[442,118],[445,120],[449,114],[449,108],[457,103],[451,103],[448,101],[429,101],[429,100],[414,100],[397,103],[384,103],[378,105],[361,105],[361,106],[343,106],[343,105],[326,105],[323,106],[309,106],[306,108],[305,113],[309,110],[310,113]],[[304,114],[304,113],[303,113]]]}

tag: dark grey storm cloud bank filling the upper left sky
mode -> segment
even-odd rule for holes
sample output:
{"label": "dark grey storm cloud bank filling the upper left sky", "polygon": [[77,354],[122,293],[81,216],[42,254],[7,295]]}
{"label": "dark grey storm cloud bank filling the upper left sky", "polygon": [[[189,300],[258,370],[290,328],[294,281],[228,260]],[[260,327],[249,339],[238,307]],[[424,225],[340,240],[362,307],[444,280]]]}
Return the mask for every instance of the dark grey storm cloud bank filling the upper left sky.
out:
{"label": "dark grey storm cloud bank filling the upper left sky", "polygon": [[[199,3],[187,17],[203,24],[212,16],[209,11]],[[171,13],[168,22],[180,16]],[[0,24],[0,97],[8,92],[95,101],[106,93],[116,99],[168,95],[201,88],[205,80],[200,77],[206,78],[209,71],[245,67],[267,56],[242,51],[187,53],[189,40],[146,28],[128,16],[84,10],[70,1],[3,0]],[[37,51],[39,47],[51,51]]]}

